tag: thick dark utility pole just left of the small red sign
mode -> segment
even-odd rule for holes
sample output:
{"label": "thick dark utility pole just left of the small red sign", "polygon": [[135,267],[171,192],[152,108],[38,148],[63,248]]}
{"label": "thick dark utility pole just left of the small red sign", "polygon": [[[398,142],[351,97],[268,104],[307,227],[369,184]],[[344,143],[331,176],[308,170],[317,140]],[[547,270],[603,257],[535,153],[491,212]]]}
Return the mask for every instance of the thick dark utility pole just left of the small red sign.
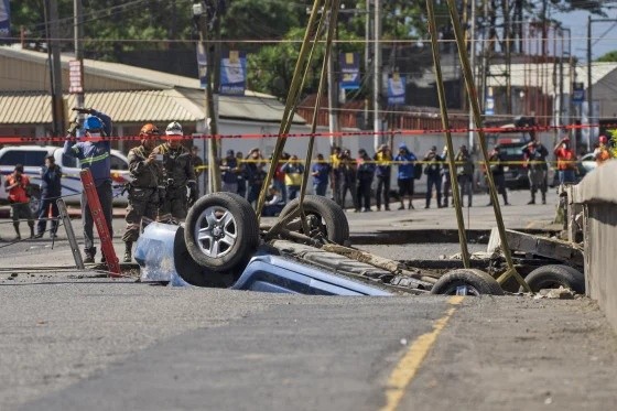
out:
{"label": "thick dark utility pole just left of the small red sign", "polygon": [[62,99],[62,65],[59,60],[59,22],[57,11],[57,0],[46,0],[48,19],[47,19],[47,33],[48,33],[48,47],[52,51],[52,112],[53,112],[53,134],[64,134],[64,104]]}

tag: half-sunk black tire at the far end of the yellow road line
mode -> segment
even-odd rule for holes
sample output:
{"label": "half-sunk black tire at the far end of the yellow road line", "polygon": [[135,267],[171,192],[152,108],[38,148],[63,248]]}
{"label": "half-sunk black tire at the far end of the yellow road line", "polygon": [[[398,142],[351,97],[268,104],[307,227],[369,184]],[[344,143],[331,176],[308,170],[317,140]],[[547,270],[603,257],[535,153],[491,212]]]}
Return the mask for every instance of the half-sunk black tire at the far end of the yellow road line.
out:
{"label": "half-sunk black tire at the far end of the yellow road line", "polygon": [[459,269],[443,274],[431,289],[431,294],[455,295],[458,286],[467,286],[467,295],[504,295],[492,277],[476,269]]}

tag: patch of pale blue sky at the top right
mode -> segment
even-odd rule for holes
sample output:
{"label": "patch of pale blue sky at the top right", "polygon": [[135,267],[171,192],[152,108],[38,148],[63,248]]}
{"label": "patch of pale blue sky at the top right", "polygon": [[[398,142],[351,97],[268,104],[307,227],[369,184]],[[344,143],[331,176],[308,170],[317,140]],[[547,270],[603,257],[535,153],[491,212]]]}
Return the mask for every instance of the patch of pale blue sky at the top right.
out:
{"label": "patch of pale blue sky at the top right", "polygon": [[[606,10],[607,17],[592,15],[592,19],[617,19],[617,10]],[[580,62],[587,62],[587,18],[589,13],[575,11],[570,13],[554,13],[553,19],[561,21],[572,31],[572,54]],[[604,36],[603,36],[604,35]],[[602,37],[602,39],[600,39]],[[592,23],[592,60],[617,50],[617,22]]]}

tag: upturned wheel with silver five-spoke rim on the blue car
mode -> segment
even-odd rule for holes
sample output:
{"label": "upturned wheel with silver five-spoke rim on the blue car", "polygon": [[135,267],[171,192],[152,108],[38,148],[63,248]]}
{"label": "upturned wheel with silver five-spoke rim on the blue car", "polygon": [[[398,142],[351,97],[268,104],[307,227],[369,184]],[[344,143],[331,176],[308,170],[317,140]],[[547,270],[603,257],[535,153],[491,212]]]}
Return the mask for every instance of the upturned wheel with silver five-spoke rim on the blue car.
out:
{"label": "upturned wheel with silver five-spoke rim on the blue car", "polygon": [[199,266],[216,272],[234,271],[252,257],[259,245],[257,216],[237,194],[208,194],[188,210],[184,240]]}

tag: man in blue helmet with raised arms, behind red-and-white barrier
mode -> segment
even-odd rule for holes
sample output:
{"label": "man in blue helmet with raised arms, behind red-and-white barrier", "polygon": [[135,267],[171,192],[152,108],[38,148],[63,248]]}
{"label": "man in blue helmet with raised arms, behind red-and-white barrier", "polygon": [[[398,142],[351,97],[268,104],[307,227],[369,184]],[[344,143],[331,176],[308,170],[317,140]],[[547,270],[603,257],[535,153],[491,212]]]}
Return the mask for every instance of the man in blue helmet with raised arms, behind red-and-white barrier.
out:
{"label": "man in blue helmet with raised arms, behind red-and-white barrier", "polygon": [[[79,125],[73,122],[64,143],[64,154],[77,158],[82,169],[90,170],[109,235],[113,236],[113,229],[111,228],[111,144],[109,140],[101,140],[101,138],[111,134],[111,118],[91,108],[76,107],[73,110],[88,115],[84,121],[86,139],[76,141],[75,134]],[[85,192],[82,192],[82,221],[84,225],[84,252],[86,255],[84,262],[95,262],[94,219]],[[101,261],[105,261],[105,256]]]}

